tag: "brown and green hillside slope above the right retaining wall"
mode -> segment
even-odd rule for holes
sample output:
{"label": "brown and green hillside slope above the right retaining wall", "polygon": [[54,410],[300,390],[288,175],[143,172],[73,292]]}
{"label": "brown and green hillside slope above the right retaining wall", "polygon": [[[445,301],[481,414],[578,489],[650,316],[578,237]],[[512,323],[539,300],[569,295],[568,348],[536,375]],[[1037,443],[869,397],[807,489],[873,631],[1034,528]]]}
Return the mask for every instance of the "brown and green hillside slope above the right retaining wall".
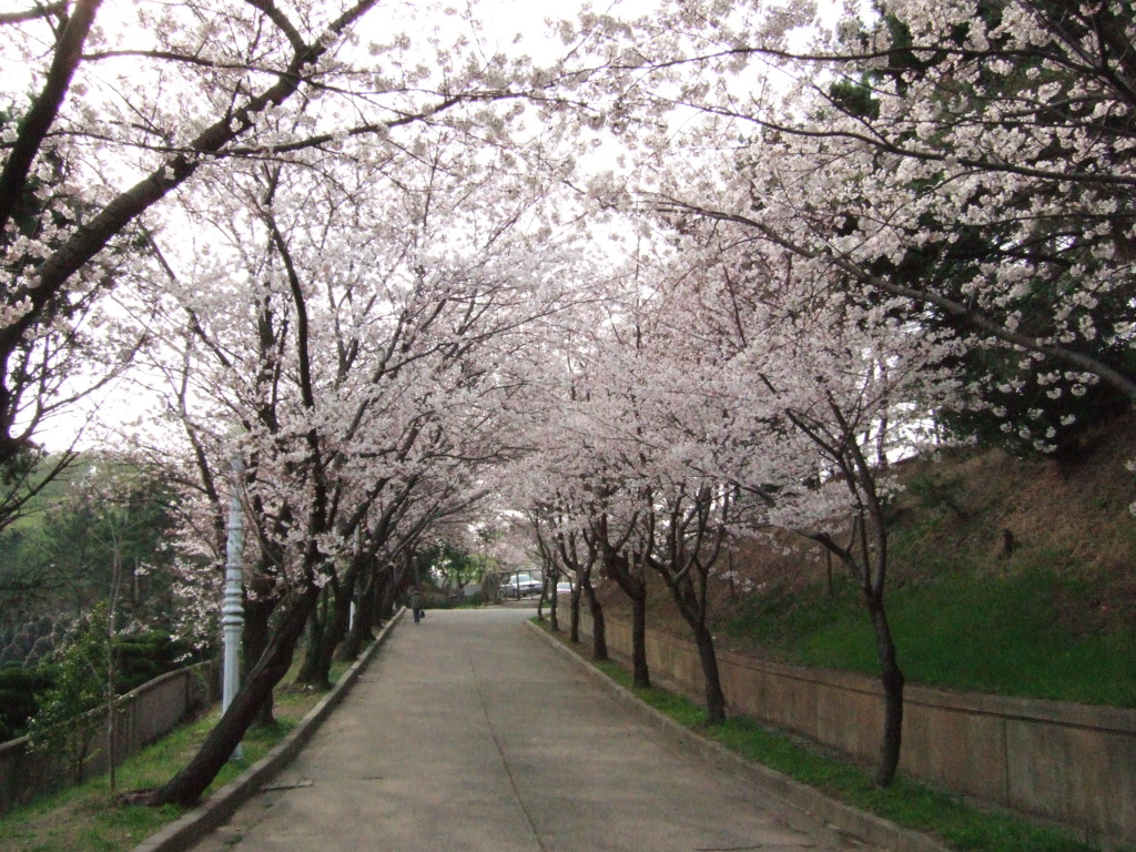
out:
{"label": "brown and green hillside slope above the right retaining wall", "polygon": [[[1074,462],[955,450],[897,466],[888,610],[914,683],[1136,707],[1136,418]],[[818,545],[736,542],[713,590],[719,646],[876,673],[851,578]],[[830,575],[832,571],[832,575]],[[661,583],[650,626],[685,635]],[[750,591],[747,591],[750,590]],[[603,600],[628,609],[613,584]]]}

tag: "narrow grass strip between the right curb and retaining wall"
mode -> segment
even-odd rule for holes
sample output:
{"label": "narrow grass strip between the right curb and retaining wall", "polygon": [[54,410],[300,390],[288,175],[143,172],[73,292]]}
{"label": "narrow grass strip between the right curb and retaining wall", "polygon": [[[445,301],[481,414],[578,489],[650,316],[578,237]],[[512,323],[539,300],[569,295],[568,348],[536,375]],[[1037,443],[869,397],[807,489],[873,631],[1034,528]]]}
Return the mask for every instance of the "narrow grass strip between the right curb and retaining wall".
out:
{"label": "narrow grass strip between the right curb and retaining wall", "polygon": [[[546,623],[540,626],[548,628]],[[907,778],[901,777],[887,790],[882,790],[872,782],[870,771],[837,760],[796,737],[770,730],[745,717],[708,725],[705,712],[690,699],[658,686],[635,688],[630,674],[615,662],[592,665],[679,725],[747,760],[904,828],[934,835],[960,852],[1100,852],[1100,846],[1085,843],[1068,832],[1002,811],[980,809],[959,796]]]}

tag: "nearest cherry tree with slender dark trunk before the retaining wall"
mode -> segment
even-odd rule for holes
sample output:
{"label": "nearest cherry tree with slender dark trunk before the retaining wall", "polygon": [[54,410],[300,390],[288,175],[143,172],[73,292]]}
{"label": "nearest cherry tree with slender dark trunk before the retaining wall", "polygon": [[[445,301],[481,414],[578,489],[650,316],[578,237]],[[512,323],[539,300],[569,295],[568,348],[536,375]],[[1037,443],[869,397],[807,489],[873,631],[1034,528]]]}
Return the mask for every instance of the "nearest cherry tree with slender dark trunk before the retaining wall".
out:
{"label": "nearest cherry tree with slender dark trunk before the retaining wall", "polygon": [[677,434],[702,448],[690,463],[738,490],[736,529],[795,532],[857,579],[880,663],[877,780],[887,785],[904,686],[885,607],[889,462],[920,449],[936,410],[966,404],[961,343],[924,327],[910,301],[849,294],[827,279],[833,267],[801,264],[744,225],[680,229],[660,325],[682,368],[655,370],[655,396],[670,400],[663,414]]}

